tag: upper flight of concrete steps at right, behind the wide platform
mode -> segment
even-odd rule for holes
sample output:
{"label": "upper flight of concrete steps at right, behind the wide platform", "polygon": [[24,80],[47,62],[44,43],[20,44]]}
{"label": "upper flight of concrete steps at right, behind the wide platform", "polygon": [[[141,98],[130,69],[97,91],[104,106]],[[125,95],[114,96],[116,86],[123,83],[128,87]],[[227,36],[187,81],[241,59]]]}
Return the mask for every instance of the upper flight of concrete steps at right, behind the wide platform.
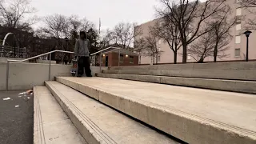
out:
{"label": "upper flight of concrete steps at right, behind the wide platform", "polygon": [[256,62],[123,66],[97,76],[256,94]]}

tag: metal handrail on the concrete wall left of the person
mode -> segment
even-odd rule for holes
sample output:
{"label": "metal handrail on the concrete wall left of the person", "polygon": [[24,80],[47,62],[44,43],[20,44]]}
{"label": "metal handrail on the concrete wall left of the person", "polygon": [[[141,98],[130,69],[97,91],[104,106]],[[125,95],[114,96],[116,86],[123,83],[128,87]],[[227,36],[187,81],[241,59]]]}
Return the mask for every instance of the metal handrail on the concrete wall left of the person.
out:
{"label": "metal handrail on the concrete wall left of the person", "polygon": [[10,65],[10,62],[26,62],[26,61],[29,61],[30,59],[39,58],[39,57],[45,56],[45,55],[47,55],[47,54],[50,54],[50,55],[49,55],[49,80],[50,80],[51,54],[52,54],[52,53],[55,53],[55,52],[74,54],[74,52],[71,52],[71,51],[53,50],[53,51],[50,51],[50,52],[48,52],[48,53],[40,54],[40,55],[31,57],[31,58],[26,58],[26,59],[23,59],[23,60],[7,59],[7,67],[6,67],[6,90],[8,90],[8,84],[9,84],[9,65]]}

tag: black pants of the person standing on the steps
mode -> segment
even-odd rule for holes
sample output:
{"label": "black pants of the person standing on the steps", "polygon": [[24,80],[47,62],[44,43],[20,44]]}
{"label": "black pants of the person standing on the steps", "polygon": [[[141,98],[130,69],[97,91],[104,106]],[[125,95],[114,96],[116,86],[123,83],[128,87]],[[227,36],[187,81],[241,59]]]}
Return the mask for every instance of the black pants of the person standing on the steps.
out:
{"label": "black pants of the person standing on the steps", "polygon": [[82,76],[84,73],[83,69],[86,69],[86,76],[91,76],[90,71],[90,58],[89,57],[79,57],[78,58],[78,75]]}

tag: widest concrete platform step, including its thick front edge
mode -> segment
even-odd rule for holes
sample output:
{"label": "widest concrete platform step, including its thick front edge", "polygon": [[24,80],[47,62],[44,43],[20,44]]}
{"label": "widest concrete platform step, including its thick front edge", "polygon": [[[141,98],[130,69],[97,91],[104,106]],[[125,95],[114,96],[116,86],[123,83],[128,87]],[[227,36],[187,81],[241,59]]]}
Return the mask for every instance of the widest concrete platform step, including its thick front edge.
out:
{"label": "widest concrete platform step, including its thick front edge", "polygon": [[253,94],[113,78],[59,77],[56,80],[184,142],[256,143]]}

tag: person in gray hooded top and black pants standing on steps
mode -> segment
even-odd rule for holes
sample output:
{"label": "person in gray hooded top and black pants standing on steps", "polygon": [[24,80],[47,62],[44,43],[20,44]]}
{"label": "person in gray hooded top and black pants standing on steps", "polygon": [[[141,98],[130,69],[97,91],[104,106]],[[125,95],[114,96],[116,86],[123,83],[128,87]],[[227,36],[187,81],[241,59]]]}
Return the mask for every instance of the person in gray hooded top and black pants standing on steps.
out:
{"label": "person in gray hooded top and black pants standing on steps", "polygon": [[80,38],[75,42],[74,54],[78,57],[78,77],[84,74],[86,69],[86,76],[92,77],[90,71],[90,41],[86,38],[84,31],[80,32]]}

